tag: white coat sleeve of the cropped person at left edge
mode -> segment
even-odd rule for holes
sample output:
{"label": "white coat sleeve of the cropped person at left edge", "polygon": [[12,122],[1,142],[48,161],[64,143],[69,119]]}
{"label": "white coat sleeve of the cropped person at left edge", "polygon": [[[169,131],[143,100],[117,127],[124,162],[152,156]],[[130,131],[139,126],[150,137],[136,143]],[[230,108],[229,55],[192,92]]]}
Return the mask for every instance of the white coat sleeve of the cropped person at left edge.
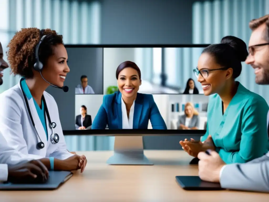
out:
{"label": "white coat sleeve of the cropped person at left edge", "polygon": [[8,165],[26,163],[33,160],[32,157],[23,155],[21,152],[10,147],[0,132],[0,182],[8,180]]}

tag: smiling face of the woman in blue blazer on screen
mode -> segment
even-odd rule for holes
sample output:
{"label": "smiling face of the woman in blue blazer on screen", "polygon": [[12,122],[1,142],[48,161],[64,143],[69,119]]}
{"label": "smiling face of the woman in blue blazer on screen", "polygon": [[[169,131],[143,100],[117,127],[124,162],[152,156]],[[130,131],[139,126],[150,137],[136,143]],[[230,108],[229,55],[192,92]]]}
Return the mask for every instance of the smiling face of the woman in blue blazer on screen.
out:
{"label": "smiling face of the woman in blue blazer on screen", "polygon": [[136,97],[140,85],[141,80],[139,79],[138,72],[135,69],[127,67],[119,72],[118,87],[122,96]]}

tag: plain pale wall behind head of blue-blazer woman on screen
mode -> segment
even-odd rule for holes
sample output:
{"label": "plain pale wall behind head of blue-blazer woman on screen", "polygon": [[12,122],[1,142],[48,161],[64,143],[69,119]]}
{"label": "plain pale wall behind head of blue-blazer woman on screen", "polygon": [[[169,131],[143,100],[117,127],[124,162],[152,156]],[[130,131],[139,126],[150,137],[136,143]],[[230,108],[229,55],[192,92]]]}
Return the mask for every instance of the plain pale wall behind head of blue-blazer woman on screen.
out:
{"label": "plain pale wall behind head of blue-blazer woman on screen", "polygon": [[116,69],[124,61],[136,62],[134,55],[135,48],[104,48],[104,93],[108,86],[118,86]]}

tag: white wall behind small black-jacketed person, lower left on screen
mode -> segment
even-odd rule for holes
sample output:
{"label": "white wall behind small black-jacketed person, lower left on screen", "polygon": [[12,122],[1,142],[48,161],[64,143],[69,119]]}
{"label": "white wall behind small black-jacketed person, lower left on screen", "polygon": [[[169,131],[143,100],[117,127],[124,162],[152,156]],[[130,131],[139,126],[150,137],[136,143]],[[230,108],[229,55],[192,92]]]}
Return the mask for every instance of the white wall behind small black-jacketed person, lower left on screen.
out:
{"label": "white wall behind small black-jacketed person, lower left on screen", "polygon": [[91,115],[91,120],[93,121],[102,102],[103,95],[75,95],[75,118],[80,114],[80,107],[85,105],[87,107],[87,114]]}

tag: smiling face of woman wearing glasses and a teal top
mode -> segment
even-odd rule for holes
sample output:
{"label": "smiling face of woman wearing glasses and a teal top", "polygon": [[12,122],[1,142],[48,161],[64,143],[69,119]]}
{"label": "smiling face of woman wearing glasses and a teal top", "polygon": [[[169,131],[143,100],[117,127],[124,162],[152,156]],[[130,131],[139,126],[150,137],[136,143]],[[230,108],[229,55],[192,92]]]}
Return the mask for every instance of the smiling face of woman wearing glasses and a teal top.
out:
{"label": "smiling face of woman wearing glasses and a teal top", "polygon": [[227,70],[215,70],[222,67],[216,63],[214,56],[209,53],[201,54],[197,68],[204,76],[199,74],[197,81],[201,83],[204,95],[207,96],[220,93],[226,85],[227,80],[231,78],[233,72],[231,68]]}

